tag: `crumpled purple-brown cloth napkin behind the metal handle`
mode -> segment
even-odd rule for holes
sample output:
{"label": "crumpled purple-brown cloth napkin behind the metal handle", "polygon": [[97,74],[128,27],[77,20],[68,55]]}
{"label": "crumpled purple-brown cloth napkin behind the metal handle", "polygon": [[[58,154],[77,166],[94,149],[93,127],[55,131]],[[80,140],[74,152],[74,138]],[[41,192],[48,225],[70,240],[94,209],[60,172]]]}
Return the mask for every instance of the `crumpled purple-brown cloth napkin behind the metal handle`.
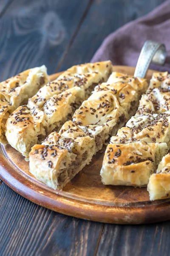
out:
{"label": "crumpled purple-brown cloth napkin behind the metal handle", "polygon": [[164,66],[151,64],[150,68],[170,71],[170,0],[165,1],[144,17],[131,21],[108,35],[91,62],[110,59],[113,65],[135,67],[146,40],[164,43],[167,48]]}

